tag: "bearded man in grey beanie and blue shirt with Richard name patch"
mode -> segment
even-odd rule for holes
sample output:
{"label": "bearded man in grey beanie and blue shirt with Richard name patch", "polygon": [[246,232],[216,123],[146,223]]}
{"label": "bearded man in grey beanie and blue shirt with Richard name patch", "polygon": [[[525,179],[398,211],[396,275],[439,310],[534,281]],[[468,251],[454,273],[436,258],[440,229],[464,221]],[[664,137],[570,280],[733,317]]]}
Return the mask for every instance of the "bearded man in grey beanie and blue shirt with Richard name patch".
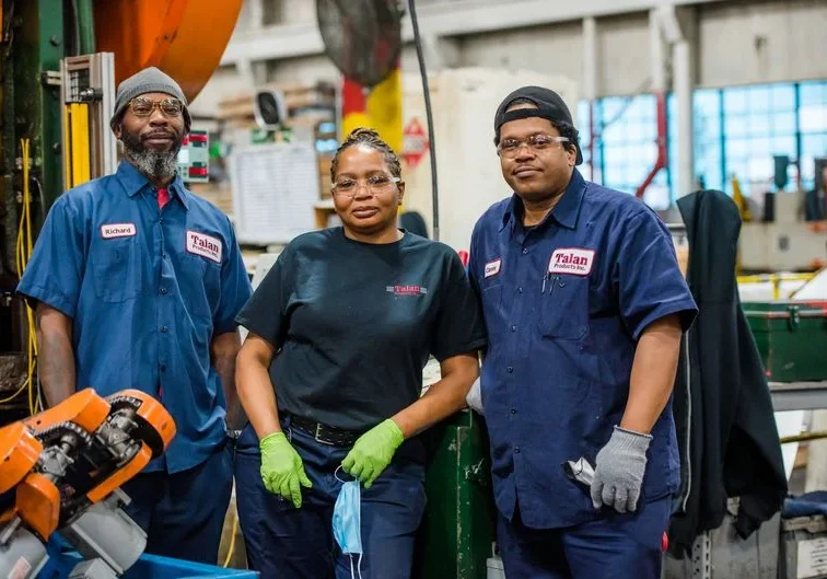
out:
{"label": "bearded man in grey beanie and blue shirt with Richard name patch", "polygon": [[232,490],[234,319],[252,289],[229,219],[176,174],[190,126],[178,84],[155,68],[126,79],[110,126],[117,173],[57,199],[18,291],[35,309],[49,405],[91,386],[138,389],[170,410],[177,433],[124,487],[128,511],[149,553],[214,564]]}

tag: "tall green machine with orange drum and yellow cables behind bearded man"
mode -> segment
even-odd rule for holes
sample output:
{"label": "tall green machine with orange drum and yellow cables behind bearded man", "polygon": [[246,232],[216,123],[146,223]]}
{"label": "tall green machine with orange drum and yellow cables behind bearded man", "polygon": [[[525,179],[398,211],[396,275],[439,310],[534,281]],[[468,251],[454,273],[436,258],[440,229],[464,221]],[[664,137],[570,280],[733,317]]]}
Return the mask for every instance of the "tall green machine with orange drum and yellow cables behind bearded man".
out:
{"label": "tall green machine with orange drum and yellow cables behind bearded man", "polygon": [[[242,0],[0,0],[0,426],[42,407],[34,316],[14,296],[39,228],[69,188],[112,173],[120,81],[159,67],[191,102],[218,67]],[[208,176],[207,135],[182,149]]]}

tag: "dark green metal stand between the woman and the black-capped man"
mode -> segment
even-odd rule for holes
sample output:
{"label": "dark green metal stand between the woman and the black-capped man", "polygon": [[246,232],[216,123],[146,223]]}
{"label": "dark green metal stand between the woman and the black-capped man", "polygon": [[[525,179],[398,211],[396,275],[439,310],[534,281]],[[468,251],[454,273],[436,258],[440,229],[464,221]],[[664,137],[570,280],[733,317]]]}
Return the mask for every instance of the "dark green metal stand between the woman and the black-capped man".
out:
{"label": "dark green metal stand between the woman and the black-capped man", "polygon": [[415,577],[486,579],[494,541],[491,463],[482,418],[463,410],[427,435],[430,460]]}

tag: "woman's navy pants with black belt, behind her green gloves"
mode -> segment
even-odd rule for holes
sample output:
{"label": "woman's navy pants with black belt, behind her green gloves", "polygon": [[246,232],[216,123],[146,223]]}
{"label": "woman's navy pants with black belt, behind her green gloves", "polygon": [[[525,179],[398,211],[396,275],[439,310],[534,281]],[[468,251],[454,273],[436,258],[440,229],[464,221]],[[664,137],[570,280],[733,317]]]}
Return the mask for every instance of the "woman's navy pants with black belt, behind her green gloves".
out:
{"label": "woman's navy pants with black belt, behind her green gloves", "polygon": [[[341,483],[334,476],[349,449],[317,442],[282,421],[313,488],[302,507],[265,489],[258,438],[248,425],[238,438],[235,484],[238,520],[251,569],[261,579],[350,579],[350,556],[333,537]],[[350,477],[339,470],[338,477]],[[414,541],[424,511],[424,466],[395,458],[371,488],[361,487],[362,579],[409,579]],[[358,557],[353,557],[356,572]]]}

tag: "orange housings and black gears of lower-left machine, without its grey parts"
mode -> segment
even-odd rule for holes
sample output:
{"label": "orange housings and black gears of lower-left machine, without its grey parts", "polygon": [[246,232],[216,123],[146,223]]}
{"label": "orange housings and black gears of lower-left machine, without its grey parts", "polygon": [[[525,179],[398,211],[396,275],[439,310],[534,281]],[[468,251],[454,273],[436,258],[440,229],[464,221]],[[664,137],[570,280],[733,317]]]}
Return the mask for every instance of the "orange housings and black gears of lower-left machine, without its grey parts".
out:
{"label": "orange housings and black gears of lower-left machine, without its grey parts", "polygon": [[16,519],[47,541],[163,454],[175,431],[152,396],[92,389],[0,429],[0,493],[15,491],[0,526]]}

